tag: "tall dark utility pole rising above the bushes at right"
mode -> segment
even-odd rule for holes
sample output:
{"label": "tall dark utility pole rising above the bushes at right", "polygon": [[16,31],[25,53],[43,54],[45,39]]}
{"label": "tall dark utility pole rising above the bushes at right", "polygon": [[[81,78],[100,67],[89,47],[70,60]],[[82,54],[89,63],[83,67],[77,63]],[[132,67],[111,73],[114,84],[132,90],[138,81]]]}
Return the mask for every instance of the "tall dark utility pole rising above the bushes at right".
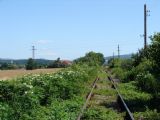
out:
{"label": "tall dark utility pole rising above the bushes at right", "polygon": [[147,10],[147,5],[144,4],[144,49],[147,48],[147,16],[149,16],[148,12],[150,11]]}

